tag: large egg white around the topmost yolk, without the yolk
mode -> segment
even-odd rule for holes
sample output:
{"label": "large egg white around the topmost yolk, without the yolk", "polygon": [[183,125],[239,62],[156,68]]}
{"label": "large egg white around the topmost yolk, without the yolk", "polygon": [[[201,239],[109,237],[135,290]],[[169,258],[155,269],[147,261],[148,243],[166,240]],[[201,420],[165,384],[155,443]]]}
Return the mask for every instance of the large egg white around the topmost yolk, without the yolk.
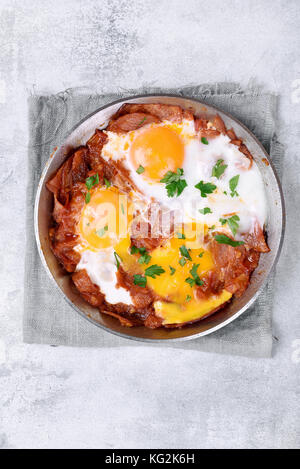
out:
{"label": "large egg white around the topmost yolk, without the yolk", "polygon": [[[238,150],[237,146],[230,143],[229,137],[220,135],[209,139],[208,145],[205,145],[196,135],[194,122],[191,120],[184,120],[181,124],[167,121],[150,124],[150,126],[157,125],[174,128],[184,143],[183,177],[188,186],[179,197],[168,197],[165,184],[151,181],[143,174],[137,174],[131,163],[131,143],[145,127],[127,134],[106,132],[108,141],[102,151],[104,159],[121,160],[143,197],[148,201],[156,200],[169,210],[174,210],[177,223],[202,222],[230,234],[228,225],[223,226],[220,218],[236,213],[240,218],[237,237],[241,233],[251,232],[256,222],[261,227],[264,226],[267,218],[267,203],[261,174],[255,162],[248,169],[249,159]],[[220,179],[217,179],[211,174],[213,166],[219,159],[224,160],[227,168]],[[229,181],[237,174],[240,175],[237,187],[239,195],[231,197]],[[195,188],[201,180],[217,186],[213,194],[208,194],[205,198],[201,197],[200,191]],[[227,192],[227,195],[224,192]],[[212,213],[201,214],[199,209],[204,207],[209,207]]]}

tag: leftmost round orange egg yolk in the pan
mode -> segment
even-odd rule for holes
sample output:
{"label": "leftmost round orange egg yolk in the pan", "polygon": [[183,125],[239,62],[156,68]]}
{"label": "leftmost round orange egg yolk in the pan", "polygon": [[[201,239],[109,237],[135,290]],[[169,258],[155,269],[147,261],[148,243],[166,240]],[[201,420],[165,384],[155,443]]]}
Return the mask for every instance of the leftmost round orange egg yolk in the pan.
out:
{"label": "leftmost round orange egg yolk in the pan", "polygon": [[92,250],[105,249],[125,238],[130,223],[129,206],[126,195],[114,187],[93,190],[78,225],[84,244]]}

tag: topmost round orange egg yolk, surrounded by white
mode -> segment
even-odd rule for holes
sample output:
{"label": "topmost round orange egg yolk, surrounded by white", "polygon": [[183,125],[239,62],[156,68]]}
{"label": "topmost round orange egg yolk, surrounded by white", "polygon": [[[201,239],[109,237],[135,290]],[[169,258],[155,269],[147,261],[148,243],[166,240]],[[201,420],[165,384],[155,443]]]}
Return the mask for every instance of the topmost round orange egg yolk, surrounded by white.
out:
{"label": "topmost round orange egg yolk, surrounded by white", "polygon": [[183,166],[184,145],[168,127],[150,127],[133,140],[130,158],[135,169],[144,168],[143,176],[159,181],[167,171],[176,172]]}

